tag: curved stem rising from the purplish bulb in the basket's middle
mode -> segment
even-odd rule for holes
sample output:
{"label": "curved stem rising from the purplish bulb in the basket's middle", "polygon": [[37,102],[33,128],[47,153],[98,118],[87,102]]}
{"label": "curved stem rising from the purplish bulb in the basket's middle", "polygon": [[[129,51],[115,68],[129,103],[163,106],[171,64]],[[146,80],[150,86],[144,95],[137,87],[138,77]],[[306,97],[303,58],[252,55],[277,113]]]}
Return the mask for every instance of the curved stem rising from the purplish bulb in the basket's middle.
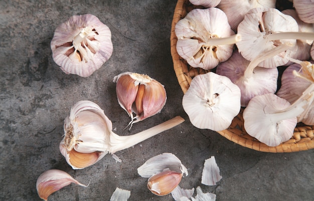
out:
{"label": "curved stem rising from the purplish bulb in the basket's middle", "polygon": [[279,53],[281,52],[284,52],[286,51],[287,49],[289,49],[290,47],[292,47],[292,44],[290,43],[283,43],[271,50],[267,50],[267,51],[264,51],[262,53],[260,53],[256,58],[254,58],[250,64],[247,66],[246,70],[244,71],[244,77],[246,79],[249,79],[253,76],[253,71],[254,71],[254,68],[257,67],[257,65],[266,60],[266,59],[269,59],[269,58],[272,58],[276,55],[278,55]]}

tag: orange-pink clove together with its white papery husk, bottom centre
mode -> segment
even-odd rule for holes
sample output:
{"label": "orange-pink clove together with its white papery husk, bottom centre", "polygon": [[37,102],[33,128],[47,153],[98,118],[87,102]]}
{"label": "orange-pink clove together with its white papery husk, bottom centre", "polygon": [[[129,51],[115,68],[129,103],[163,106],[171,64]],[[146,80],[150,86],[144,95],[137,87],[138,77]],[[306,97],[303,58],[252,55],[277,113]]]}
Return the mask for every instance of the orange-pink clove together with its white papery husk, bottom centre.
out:
{"label": "orange-pink clove together with its white papery husk, bottom centre", "polygon": [[172,153],[163,153],[148,159],[137,168],[141,177],[149,178],[148,189],[156,195],[172,192],[180,183],[183,174],[188,175],[187,168]]}

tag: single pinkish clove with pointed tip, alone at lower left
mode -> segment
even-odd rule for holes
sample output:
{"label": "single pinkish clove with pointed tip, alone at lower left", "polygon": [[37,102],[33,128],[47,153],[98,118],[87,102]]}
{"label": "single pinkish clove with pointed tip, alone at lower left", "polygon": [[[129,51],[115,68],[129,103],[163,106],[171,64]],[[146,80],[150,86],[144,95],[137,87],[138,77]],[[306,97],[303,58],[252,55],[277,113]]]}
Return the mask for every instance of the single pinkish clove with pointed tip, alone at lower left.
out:
{"label": "single pinkish clove with pointed tip, alone at lower left", "polygon": [[70,174],[59,169],[50,169],[42,173],[36,182],[37,193],[40,198],[47,200],[48,196],[53,192],[60,190],[64,186],[76,183],[78,185],[87,187],[77,180],[75,180]]}

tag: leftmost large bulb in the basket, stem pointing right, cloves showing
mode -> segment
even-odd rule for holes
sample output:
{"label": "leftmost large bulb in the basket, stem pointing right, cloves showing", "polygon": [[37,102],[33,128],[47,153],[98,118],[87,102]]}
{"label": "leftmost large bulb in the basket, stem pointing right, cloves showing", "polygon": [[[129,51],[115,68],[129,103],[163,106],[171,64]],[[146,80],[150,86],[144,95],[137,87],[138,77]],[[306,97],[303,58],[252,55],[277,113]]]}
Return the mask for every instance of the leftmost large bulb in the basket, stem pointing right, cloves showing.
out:
{"label": "leftmost large bulb in the basket, stem pointing right, cloves showing", "polygon": [[175,27],[177,52],[192,67],[215,68],[232,54],[241,40],[231,30],[227,16],[220,9],[194,9]]}

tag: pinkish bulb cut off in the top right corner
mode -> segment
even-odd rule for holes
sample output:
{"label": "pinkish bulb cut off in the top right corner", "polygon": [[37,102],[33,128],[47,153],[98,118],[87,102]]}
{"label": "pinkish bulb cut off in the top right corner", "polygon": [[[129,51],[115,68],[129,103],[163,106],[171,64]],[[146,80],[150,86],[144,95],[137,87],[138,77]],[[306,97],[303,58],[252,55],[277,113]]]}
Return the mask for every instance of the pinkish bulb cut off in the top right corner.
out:
{"label": "pinkish bulb cut off in the top right corner", "polygon": [[314,23],[314,4],[312,0],[293,0],[299,18],[305,23]]}

